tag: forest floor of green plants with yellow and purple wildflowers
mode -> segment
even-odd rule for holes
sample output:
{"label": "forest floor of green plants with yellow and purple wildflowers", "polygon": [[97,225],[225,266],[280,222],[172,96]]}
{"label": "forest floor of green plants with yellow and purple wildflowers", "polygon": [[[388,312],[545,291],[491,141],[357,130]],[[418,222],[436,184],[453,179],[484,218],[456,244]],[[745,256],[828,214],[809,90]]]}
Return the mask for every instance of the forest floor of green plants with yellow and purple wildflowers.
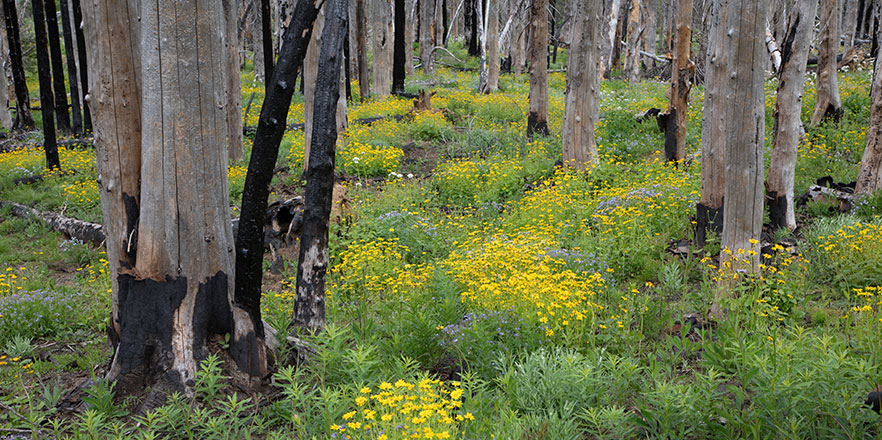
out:
{"label": "forest floor of green plants with yellow and purple wildflowers", "polygon": [[[807,127],[797,194],[824,176],[855,179],[869,66],[840,73],[842,121]],[[761,276],[722,284],[719,239],[690,241],[701,87],[687,159],[674,167],[655,122],[634,118],[665,109],[668,85],[604,81],[601,163],[580,173],[555,167],[564,74],[549,80],[555,135],[532,141],[527,79],[503,75],[501,91],[481,95],[476,72],[415,75],[409,92],[436,92],[436,111],[421,113],[408,99],[353,97],[337,151],[346,203],[331,227],[329,325],[309,338],[304,363],[275,366],[264,393],[236,389],[212,356],[194,399],[131,414],[137,398],[115,398],[100,380],[110,356],[103,251],[0,209],[0,438],[880,435],[864,401],[882,384],[882,194],[846,212],[799,206],[797,231],[764,234]],[[246,125],[256,125],[263,86],[248,74],[243,84],[243,103],[255,96]],[[775,88],[767,82],[766,164]],[[807,121],[811,75],[804,96]],[[355,123],[393,115],[404,117]],[[303,122],[301,98],[288,122]],[[0,200],[100,222],[90,147],[63,148],[65,172],[13,183],[43,173],[35,142],[0,153]],[[303,133],[291,130],[272,200],[301,193],[302,161]],[[229,167],[233,216],[246,166]],[[291,319],[296,260],[283,254],[264,286],[274,328]],[[710,320],[721,285],[725,316]]]}

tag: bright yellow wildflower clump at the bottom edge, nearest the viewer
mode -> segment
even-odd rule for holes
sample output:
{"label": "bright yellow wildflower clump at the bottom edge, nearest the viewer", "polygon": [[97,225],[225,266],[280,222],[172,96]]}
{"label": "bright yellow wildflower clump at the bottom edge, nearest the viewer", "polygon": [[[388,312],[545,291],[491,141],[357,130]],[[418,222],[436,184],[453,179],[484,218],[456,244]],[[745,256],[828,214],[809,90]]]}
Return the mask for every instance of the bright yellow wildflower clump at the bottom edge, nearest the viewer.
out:
{"label": "bright yellow wildflower clump at the bottom edge, nearest the viewer", "polygon": [[475,417],[463,409],[459,382],[424,378],[362,387],[355,409],[330,426],[337,439],[454,439]]}

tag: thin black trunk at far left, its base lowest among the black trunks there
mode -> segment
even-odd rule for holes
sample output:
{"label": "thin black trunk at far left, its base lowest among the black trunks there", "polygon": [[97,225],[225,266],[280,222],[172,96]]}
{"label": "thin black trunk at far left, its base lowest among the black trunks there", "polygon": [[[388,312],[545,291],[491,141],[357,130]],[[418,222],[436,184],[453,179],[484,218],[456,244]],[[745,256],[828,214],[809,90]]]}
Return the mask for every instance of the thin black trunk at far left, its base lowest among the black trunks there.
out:
{"label": "thin black trunk at far left, its base lowest among the black trunks there", "polygon": [[[49,0],[52,1],[52,0]],[[49,73],[49,51],[46,41],[46,19],[43,17],[43,0],[34,0],[32,4],[34,12],[34,40],[37,49],[37,71],[40,77],[40,111],[43,114],[43,149],[46,151],[46,168],[61,168],[58,159],[58,146],[55,143],[55,122],[52,120],[53,112],[51,103],[52,78]]]}

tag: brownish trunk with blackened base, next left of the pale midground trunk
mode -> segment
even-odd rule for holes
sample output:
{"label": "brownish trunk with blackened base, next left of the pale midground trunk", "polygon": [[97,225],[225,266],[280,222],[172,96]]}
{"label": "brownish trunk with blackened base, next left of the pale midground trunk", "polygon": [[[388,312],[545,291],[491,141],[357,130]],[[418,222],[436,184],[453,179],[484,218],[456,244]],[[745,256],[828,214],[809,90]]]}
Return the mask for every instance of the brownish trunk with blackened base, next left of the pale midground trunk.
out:
{"label": "brownish trunk with blackened base, next left of the pale midground trunk", "polygon": [[530,113],[527,137],[548,135],[548,0],[530,7]]}

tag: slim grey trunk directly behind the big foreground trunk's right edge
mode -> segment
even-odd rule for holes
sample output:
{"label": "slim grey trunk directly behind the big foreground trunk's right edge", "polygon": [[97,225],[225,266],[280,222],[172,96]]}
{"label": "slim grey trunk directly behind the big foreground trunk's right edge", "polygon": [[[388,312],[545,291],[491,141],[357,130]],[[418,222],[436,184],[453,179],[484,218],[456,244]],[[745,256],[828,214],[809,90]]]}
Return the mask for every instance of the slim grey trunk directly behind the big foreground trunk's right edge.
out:
{"label": "slim grey trunk directly behind the big foreground trunk's right edge", "polygon": [[227,37],[224,41],[226,68],[226,75],[224,75],[226,105],[224,109],[227,120],[227,154],[230,161],[240,161],[245,158],[242,139],[242,83],[239,77],[239,43],[236,39],[238,3],[237,0],[221,0]]}

